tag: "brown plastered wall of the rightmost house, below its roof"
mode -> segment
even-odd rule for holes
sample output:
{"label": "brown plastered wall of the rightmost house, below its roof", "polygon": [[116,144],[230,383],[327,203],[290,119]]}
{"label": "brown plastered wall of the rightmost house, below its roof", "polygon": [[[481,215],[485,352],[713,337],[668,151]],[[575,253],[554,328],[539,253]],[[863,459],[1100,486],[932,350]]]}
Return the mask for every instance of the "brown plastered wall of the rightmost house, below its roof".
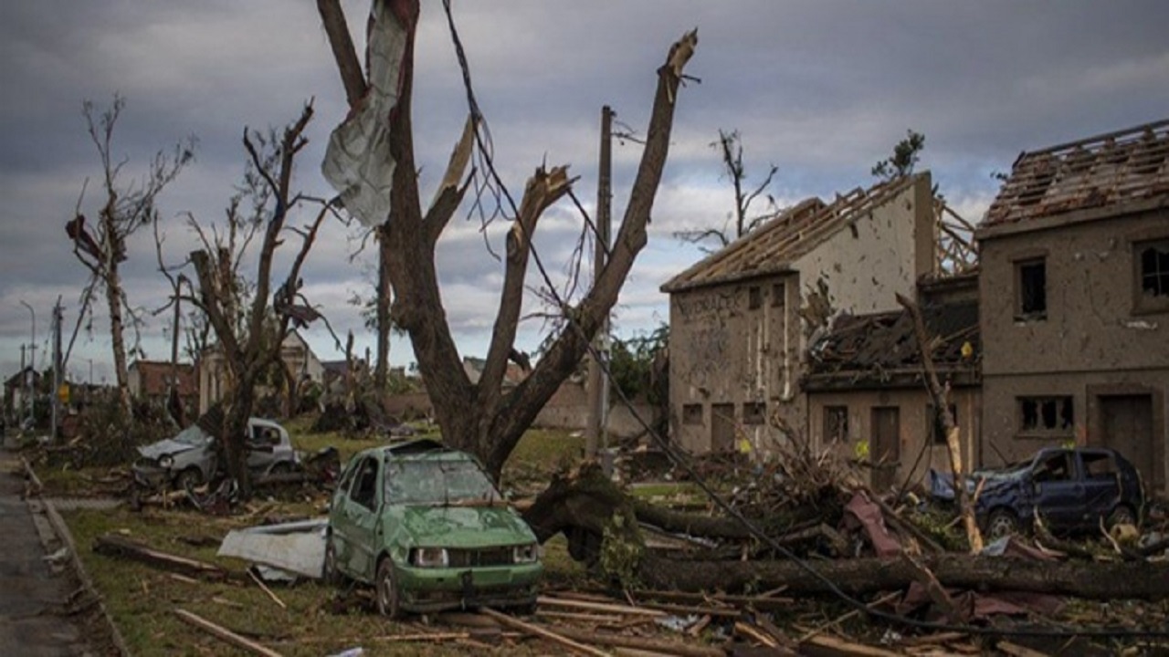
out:
{"label": "brown plastered wall of the rightmost house, below its roof", "polygon": [[[1169,238],[1169,212],[1109,217],[1106,209],[980,230],[983,456],[1001,461],[991,444],[1008,459],[1050,444],[1097,444],[1106,438],[1102,399],[1147,395],[1154,444],[1133,451],[1147,457],[1137,463],[1147,485],[1163,490],[1169,307],[1139,303],[1134,243]],[[1045,262],[1046,318],[1024,320],[1016,312],[1016,263],[1033,257]],[[1070,396],[1073,426],[1025,431],[1019,397],[1035,396]]]}

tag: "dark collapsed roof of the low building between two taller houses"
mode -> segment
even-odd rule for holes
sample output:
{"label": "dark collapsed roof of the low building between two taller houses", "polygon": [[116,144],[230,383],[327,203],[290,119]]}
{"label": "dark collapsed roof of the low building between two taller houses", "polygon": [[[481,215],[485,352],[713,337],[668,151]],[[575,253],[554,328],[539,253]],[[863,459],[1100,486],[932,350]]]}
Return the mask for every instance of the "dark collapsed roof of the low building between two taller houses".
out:
{"label": "dark collapsed roof of the low building between two taller houses", "polygon": [[[940,379],[955,385],[977,382],[982,360],[976,300],[925,305],[921,314],[932,336]],[[963,346],[969,344],[968,354]],[[908,311],[842,314],[808,350],[809,390],[841,387],[921,385],[921,357]]]}

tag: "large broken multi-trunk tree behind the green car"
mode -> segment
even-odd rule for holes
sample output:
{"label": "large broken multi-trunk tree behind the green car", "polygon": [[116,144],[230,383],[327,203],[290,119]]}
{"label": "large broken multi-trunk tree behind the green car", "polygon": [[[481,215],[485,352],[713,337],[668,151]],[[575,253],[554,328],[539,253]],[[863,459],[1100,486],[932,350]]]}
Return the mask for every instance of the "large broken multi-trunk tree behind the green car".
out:
{"label": "large broken multi-trunk tree behind the green car", "polygon": [[[569,194],[567,167],[538,168],[527,181],[518,206],[507,212],[512,226],[506,237],[504,283],[494,331],[484,369],[478,381],[472,382],[463,369],[447,324],[435,249],[468,191],[470,177],[465,177],[464,171],[472,148],[479,150],[483,155],[479,161],[490,167],[473,90],[468,87],[471,117],[463,138],[450,158],[434,201],[423,212],[411,126],[419,0],[373,4],[366,50],[368,77],[362,74],[339,1],[318,0],[317,6],[351,108],[350,117],[331,138],[325,177],[338,188],[351,213],[367,224],[383,227],[385,248],[393,254],[387,258],[387,272],[395,295],[394,321],[410,337],[443,438],[448,444],[477,455],[498,476],[520,436],[587,353],[590,340],[617,300],[634,260],[645,245],[645,227],[669,153],[675,102],[683,82],[683,68],[698,42],[697,30],[676,42],[658,69],[645,148],[604,269],[593,286],[581,293],[579,303],[565,303],[558,309],[563,321],[551,346],[523,382],[504,389],[507,361],[517,355],[514,339],[524,300],[524,279],[533,256],[532,236],[540,215]],[[444,7],[457,41],[449,4]],[[465,62],[462,63],[469,84],[470,74]],[[484,174],[499,182],[493,170]],[[546,292],[555,297],[552,290]]]}

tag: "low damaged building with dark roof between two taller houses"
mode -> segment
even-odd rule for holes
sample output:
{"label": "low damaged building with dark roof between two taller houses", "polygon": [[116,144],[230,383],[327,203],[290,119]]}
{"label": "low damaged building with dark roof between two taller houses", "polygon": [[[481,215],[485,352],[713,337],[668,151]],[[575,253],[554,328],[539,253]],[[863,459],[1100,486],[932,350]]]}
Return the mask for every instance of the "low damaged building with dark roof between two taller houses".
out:
{"label": "low damaged building with dark roof between two taller houses", "polygon": [[[939,381],[963,437],[964,463],[976,463],[982,390],[977,271],[918,285]],[[936,421],[921,368],[913,318],[891,312],[843,314],[808,351],[802,387],[814,444],[835,447],[870,472],[877,491],[949,470],[946,434]]]}

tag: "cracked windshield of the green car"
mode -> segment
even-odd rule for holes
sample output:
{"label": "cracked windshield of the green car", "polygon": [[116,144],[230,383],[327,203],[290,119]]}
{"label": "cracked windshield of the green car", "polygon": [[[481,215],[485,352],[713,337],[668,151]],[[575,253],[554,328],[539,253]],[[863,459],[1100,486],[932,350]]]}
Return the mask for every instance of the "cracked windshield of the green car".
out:
{"label": "cracked windshield of the green car", "polygon": [[389,504],[490,504],[499,500],[473,461],[390,461],[386,464]]}

